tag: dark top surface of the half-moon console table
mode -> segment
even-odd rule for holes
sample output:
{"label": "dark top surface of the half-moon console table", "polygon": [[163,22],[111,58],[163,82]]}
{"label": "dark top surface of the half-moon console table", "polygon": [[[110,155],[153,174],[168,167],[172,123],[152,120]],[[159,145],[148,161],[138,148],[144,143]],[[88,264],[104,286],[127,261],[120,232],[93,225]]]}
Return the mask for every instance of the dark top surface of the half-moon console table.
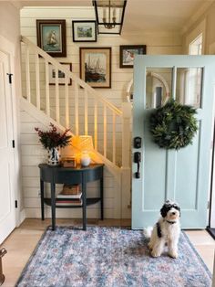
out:
{"label": "dark top surface of the half-moon console table", "polygon": [[53,171],[67,171],[67,172],[71,172],[71,171],[90,171],[90,170],[94,170],[100,167],[103,167],[104,164],[91,164],[88,166],[82,166],[82,165],[77,165],[77,167],[63,167],[61,165],[57,165],[57,166],[52,166],[52,165],[47,165],[47,164],[40,164],[38,165],[40,169],[53,169]]}

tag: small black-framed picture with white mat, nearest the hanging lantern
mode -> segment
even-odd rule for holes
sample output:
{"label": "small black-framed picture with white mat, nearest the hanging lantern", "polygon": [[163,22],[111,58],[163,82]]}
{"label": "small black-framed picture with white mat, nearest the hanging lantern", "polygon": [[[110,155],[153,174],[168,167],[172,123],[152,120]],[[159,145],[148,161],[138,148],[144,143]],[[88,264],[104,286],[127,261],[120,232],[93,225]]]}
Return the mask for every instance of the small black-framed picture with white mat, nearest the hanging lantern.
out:
{"label": "small black-framed picture with white mat, nearest the hanging lantern", "polygon": [[96,21],[72,21],[73,42],[97,42]]}

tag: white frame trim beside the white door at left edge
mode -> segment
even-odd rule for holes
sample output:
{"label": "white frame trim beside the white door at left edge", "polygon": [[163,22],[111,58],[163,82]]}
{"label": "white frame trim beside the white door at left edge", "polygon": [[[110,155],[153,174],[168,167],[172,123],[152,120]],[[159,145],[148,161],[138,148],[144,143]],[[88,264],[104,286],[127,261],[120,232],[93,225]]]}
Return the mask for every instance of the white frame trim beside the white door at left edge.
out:
{"label": "white frame trim beside the white door at left edge", "polygon": [[[18,125],[18,111],[19,111],[19,101],[18,92],[15,87],[15,63],[17,64],[17,59],[15,60],[15,43],[9,41],[5,37],[0,35],[0,50],[5,53],[8,57],[9,62],[9,73],[13,74],[12,84],[10,87],[11,101],[12,101],[12,122],[13,122],[13,139],[15,141],[14,148],[14,178],[12,182],[14,198],[17,200],[17,208],[15,208],[15,227],[19,226],[20,223],[26,218],[25,210],[21,210],[21,182],[19,178],[20,175],[20,144],[19,144],[19,125]],[[19,67],[20,69],[20,67]],[[18,85],[17,85],[18,86]],[[19,91],[19,90],[18,90]],[[21,84],[20,84],[21,91]]]}

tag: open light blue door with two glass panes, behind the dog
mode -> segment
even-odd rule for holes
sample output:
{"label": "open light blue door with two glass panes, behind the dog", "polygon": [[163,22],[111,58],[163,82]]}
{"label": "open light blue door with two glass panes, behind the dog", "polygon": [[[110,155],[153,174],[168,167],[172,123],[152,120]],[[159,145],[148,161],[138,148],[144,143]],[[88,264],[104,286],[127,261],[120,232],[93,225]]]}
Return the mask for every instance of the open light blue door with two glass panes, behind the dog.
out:
{"label": "open light blue door with two glass panes, behind the dog", "polygon": [[[181,207],[181,226],[207,226],[210,187],[210,146],[212,134],[214,56],[137,56],[134,66],[133,137],[141,137],[140,178],[132,164],[132,229],[152,226],[167,199]],[[165,78],[167,88],[150,73]],[[172,97],[197,109],[199,125],[193,143],[175,150],[159,148],[148,128],[151,112]],[[137,160],[137,158],[136,158]]]}

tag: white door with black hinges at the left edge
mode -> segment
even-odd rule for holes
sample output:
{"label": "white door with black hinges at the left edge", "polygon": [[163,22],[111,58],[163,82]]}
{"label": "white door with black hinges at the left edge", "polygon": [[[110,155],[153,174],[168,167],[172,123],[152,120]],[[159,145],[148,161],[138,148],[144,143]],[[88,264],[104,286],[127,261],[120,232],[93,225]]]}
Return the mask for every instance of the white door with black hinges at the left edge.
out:
{"label": "white door with black hinges at the left edge", "polygon": [[13,110],[9,56],[0,51],[0,243],[15,228]]}

